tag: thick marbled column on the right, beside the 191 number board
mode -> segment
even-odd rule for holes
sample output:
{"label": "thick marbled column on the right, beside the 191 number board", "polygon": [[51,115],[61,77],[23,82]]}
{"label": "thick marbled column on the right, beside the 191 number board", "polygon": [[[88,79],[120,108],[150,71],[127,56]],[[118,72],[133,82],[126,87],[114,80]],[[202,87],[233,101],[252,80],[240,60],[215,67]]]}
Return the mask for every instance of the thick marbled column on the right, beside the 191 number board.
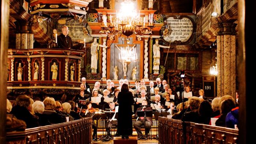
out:
{"label": "thick marbled column on the right, beside the 191 number board", "polygon": [[236,25],[218,23],[217,96],[236,95]]}

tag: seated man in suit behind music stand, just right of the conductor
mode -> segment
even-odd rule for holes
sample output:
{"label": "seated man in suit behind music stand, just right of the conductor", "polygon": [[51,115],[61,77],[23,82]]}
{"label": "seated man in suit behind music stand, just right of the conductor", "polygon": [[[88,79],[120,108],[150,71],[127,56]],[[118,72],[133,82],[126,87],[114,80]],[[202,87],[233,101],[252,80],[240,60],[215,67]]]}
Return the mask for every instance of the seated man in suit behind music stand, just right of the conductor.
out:
{"label": "seated man in suit behind music stand, just right of the conductor", "polygon": [[[142,101],[142,105],[146,106],[147,105],[147,100]],[[150,111],[152,110],[152,107],[139,107],[134,115],[134,117],[137,117],[137,112],[138,111]],[[138,139],[142,139],[142,132],[140,130],[140,126],[144,125],[145,126],[145,135],[148,135],[151,126],[153,125],[153,120],[152,117],[146,117],[146,120],[144,120],[145,117],[138,117],[137,121],[134,122],[133,127],[135,128],[137,134],[138,134]],[[147,137],[145,137],[147,139]]]}

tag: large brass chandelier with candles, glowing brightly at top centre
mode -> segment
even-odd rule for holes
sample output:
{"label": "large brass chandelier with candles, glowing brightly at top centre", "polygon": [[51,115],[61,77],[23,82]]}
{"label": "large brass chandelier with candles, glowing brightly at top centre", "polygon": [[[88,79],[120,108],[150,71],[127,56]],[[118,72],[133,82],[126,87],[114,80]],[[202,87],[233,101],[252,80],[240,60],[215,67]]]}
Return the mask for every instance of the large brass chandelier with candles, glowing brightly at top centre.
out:
{"label": "large brass chandelier with candles, glowing brightly at top centre", "polygon": [[107,35],[124,34],[129,37],[133,33],[143,35],[151,34],[155,26],[153,26],[153,14],[149,15],[148,26],[145,26],[144,19],[140,18],[140,12],[137,14],[134,4],[131,1],[124,1],[121,3],[121,9],[119,13],[116,12],[116,18],[112,21],[112,15],[110,15],[110,23],[108,26],[107,17],[102,17],[104,26],[101,27],[100,33],[106,33]]}

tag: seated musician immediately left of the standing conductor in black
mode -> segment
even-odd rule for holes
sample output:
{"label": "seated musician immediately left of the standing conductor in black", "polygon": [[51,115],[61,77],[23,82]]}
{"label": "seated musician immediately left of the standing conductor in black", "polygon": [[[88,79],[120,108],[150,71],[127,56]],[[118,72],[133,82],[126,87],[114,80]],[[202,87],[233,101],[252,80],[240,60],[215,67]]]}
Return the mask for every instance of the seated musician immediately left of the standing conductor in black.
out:
{"label": "seated musician immediately left of the standing conductor in black", "polygon": [[[110,111],[116,111],[115,103],[110,102],[109,103],[109,110]],[[116,114],[113,115],[113,117],[110,118],[108,122],[105,123],[106,130],[108,132],[108,135],[111,137],[110,134],[110,128],[114,125],[117,127],[117,119],[115,118]],[[116,134],[117,135],[117,134]]]}

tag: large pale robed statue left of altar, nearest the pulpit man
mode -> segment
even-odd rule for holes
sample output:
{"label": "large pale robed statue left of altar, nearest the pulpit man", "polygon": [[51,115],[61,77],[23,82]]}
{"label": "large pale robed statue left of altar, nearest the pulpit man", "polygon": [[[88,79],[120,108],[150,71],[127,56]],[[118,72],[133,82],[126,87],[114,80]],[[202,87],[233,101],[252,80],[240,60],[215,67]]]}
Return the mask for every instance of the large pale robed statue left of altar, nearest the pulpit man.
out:
{"label": "large pale robed statue left of altar, nearest the pulpit man", "polygon": [[94,42],[91,43],[91,72],[92,73],[97,73],[99,47],[108,48],[108,46],[100,45],[97,42],[97,38],[94,38]]}

